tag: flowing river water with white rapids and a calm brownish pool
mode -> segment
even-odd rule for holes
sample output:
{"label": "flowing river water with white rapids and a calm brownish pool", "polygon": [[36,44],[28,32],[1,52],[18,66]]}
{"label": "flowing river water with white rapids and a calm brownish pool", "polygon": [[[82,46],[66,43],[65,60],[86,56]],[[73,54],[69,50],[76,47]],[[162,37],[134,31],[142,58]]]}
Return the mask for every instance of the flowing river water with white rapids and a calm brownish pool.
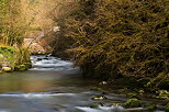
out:
{"label": "flowing river water with white rapids and a calm brownish pool", "polygon": [[[105,96],[94,101],[92,81],[80,76],[78,67],[53,56],[32,56],[33,68],[0,76],[0,112],[128,112],[121,105],[111,105],[126,98]],[[89,108],[94,102],[104,107]],[[137,109],[142,110],[142,108]],[[133,111],[135,112],[135,111]]]}

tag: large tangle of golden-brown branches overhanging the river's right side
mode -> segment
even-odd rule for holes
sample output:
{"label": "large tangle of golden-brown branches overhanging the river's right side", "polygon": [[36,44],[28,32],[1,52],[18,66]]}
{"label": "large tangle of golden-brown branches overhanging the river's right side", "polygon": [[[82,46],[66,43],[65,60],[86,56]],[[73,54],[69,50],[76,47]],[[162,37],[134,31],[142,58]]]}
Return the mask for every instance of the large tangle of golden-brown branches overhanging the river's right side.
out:
{"label": "large tangle of golden-brown branches overhanging the river's right side", "polygon": [[164,72],[168,80],[167,0],[80,0],[71,5],[60,19],[60,40],[74,43],[61,46],[74,53],[84,77],[153,79]]}

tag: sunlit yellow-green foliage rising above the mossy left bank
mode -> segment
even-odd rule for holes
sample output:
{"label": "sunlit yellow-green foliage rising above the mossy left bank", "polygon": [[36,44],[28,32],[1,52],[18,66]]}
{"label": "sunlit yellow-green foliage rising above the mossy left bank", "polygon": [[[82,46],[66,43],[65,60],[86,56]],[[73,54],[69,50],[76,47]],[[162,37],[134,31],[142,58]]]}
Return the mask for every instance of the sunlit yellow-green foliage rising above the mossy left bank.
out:
{"label": "sunlit yellow-green foliage rising above the mossy left bank", "polygon": [[20,0],[0,1],[0,43],[9,46],[21,46],[26,24],[21,16]]}

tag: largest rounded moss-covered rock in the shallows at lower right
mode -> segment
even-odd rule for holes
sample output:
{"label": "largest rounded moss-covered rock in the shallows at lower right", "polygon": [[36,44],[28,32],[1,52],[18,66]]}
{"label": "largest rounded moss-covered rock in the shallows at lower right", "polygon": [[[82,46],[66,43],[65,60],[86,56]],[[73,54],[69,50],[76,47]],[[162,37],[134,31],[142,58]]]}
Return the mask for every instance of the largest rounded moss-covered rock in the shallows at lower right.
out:
{"label": "largest rounded moss-covered rock in the shallows at lower right", "polygon": [[138,99],[129,99],[124,104],[125,108],[138,108],[140,107],[140,101]]}

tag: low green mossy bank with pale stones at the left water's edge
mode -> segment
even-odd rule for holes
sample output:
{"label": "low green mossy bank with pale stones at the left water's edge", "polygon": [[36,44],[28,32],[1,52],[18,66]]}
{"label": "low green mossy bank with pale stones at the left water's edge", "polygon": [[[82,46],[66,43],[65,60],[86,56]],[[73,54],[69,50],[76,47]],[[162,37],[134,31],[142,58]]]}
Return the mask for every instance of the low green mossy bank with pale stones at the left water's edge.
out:
{"label": "low green mossy bank with pale stones at the left water's edge", "polygon": [[31,67],[30,55],[25,48],[0,46],[0,72],[26,70]]}

